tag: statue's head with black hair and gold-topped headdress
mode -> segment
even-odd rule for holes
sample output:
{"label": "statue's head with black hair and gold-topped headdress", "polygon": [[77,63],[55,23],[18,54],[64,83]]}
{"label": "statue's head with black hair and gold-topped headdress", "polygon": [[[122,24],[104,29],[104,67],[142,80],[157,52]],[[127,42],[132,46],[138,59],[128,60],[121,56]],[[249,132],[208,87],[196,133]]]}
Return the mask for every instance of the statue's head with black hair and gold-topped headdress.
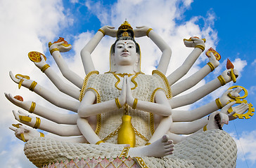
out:
{"label": "statue's head with black hair and gold-topped headdress", "polygon": [[118,28],[117,40],[110,48],[110,71],[116,71],[117,64],[134,64],[134,71],[141,71],[141,50],[127,21]]}

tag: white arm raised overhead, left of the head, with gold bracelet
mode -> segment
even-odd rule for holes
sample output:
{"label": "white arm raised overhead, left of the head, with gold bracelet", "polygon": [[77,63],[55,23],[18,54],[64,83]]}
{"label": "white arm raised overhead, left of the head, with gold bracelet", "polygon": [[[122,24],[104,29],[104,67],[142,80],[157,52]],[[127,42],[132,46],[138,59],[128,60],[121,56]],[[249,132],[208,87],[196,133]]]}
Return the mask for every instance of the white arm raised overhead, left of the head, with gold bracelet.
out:
{"label": "white arm raised overhead, left of the head, with gold bracelet", "polygon": [[101,41],[101,39],[105,35],[116,36],[116,30],[114,30],[114,27],[110,27],[110,26],[101,27],[101,29],[98,29],[94,37],[91,38],[91,40],[87,43],[87,45],[85,45],[84,48],[81,50],[80,54],[82,57],[85,73],[89,73],[90,71],[95,71],[94,62],[92,62],[92,59],[91,59],[91,52],[94,51],[98,43]]}

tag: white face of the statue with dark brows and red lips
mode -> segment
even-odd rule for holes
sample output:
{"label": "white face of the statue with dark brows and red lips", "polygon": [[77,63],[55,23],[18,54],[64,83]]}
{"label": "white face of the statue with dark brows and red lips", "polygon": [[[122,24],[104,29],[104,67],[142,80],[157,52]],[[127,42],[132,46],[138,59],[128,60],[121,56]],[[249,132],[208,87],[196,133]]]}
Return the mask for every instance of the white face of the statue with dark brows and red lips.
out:
{"label": "white face of the statue with dark brows and red lips", "polygon": [[115,64],[133,65],[139,61],[139,54],[136,53],[136,45],[132,40],[120,40],[115,44],[113,54]]}

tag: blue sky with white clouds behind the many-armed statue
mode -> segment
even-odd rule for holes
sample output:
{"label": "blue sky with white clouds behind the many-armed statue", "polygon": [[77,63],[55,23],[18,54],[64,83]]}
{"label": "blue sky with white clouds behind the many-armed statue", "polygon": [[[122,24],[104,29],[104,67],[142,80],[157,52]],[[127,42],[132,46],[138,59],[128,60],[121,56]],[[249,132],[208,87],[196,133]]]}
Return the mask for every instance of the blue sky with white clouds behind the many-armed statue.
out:
{"label": "blue sky with white clouds behind the many-armed statue", "polygon": [[[210,82],[226,69],[226,59],[233,62],[239,73],[236,83],[219,88],[196,104],[183,109],[194,109],[220,97],[231,85],[241,85],[248,90],[248,103],[256,106],[256,32],[255,1],[193,1],[193,0],[130,0],[130,1],[79,1],[79,0],[1,0],[0,1],[0,48],[1,48],[1,97],[0,97],[0,162],[2,167],[34,167],[25,157],[23,141],[15,138],[8,129],[18,123],[12,110],[18,107],[8,102],[4,92],[21,95],[25,101],[33,101],[54,110],[58,109],[25,87],[18,90],[8,76],[26,74],[60,94],[49,79],[28,59],[27,53],[35,50],[47,57],[47,63],[60,75],[58,67],[48,49],[49,41],[64,37],[72,44],[72,50],[63,53],[65,61],[72,71],[84,78],[85,73],[79,52],[96,31],[104,25],[119,27],[125,19],[132,25],[152,27],[172,48],[172,59],[167,74],[172,73],[191,52],[186,48],[183,38],[199,36],[206,38],[205,48],[215,48],[222,56],[219,67],[206,76],[191,90]],[[92,53],[94,65],[100,73],[108,71],[109,49],[115,41],[105,36]],[[160,59],[161,52],[148,37],[136,39],[141,46],[141,69],[151,74]],[[207,64],[203,53],[184,77],[198,71]],[[65,80],[65,79],[63,79]],[[68,83],[68,82],[67,82]],[[70,83],[72,85],[72,83]],[[187,92],[191,92],[188,90]],[[243,93],[241,93],[243,94]],[[224,126],[235,139],[238,146],[236,167],[256,167],[256,116],[237,119]]]}

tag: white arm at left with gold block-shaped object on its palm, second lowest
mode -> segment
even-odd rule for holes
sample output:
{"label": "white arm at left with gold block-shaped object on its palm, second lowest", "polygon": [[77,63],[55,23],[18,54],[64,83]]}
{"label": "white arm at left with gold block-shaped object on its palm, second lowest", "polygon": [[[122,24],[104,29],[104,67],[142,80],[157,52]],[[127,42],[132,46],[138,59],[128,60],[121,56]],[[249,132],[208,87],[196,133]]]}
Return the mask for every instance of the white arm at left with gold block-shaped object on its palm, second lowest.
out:
{"label": "white arm at left with gold block-shaped object on its palm, second lowest", "polygon": [[36,118],[34,116],[27,115],[22,111],[13,111],[13,115],[15,116],[15,119],[20,123],[34,127],[36,129],[44,130],[46,132],[51,132],[62,137],[82,135],[77,125],[60,125],[44,118]]}

